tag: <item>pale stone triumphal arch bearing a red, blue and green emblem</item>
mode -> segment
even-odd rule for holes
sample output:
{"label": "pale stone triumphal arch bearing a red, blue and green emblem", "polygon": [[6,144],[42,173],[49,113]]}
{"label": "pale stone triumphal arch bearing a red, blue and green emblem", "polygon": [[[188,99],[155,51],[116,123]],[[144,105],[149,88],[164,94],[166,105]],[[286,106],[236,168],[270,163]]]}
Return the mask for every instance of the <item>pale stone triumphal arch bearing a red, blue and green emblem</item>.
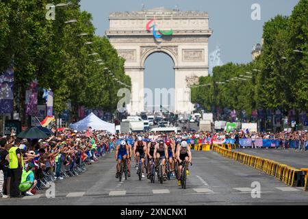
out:
{"label": "pale stone triumphal arch bearing a red, blue and green emblem", "polygon": [[125,58],[125,73],[131,77],[129,114],[144,112],[144,62],[155,52],[166,53],[175,64],[174,111],[190,113],[193,105],[189,86],[198,77],[208,75],[208,39],[212,31],[207,12],[153,8],[114,12],[109,19],[106,35]]}

